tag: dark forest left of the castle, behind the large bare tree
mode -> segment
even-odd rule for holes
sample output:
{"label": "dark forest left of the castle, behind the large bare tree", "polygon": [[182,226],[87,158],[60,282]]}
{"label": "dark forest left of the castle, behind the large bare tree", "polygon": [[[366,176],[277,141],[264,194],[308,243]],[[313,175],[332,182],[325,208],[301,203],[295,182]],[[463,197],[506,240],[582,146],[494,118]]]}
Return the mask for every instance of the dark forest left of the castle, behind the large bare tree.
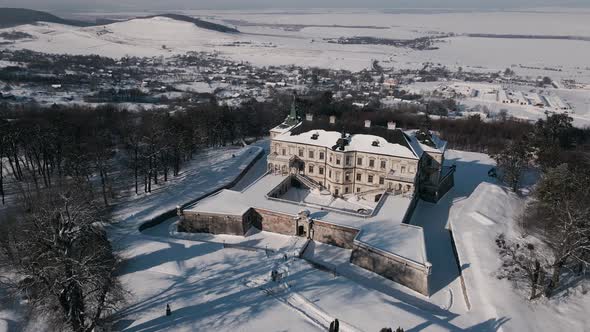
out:
{"label": "dark forest left of the castle, behind the large bare tree", "polygon": [[153,184],[178,175],[200,148],[265,135],[284,116],[277,111],[284,106],[211,103],[175,112],[0,106],[0,195],[4,202],[7,177],[37,192],[58,182],[86,182],[108,205],[117,191],[111,177],[126,172],[133,174],[137,194],[141,186],[151,192]]}

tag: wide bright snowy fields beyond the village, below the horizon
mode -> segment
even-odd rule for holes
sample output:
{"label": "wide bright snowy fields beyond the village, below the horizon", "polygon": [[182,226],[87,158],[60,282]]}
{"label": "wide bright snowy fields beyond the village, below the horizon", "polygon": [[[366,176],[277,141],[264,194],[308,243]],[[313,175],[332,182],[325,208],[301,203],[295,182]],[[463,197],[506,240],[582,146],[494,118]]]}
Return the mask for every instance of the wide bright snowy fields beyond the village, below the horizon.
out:
{"label": "wide bright snowy fields beyond the village, below the horizon", "polygon": [[[240,10],[184,13],[236,26],[242,33],[218,33],[166,18],[137,19],[91,28],[40,24],[16,28],[30,33],[34,40],[19,41],[14,47],[111,57],[216,51],[260,66],[298,64],[351,70],[368,68],[373,59],[380,60],[385,67],[395,68],[420,68],[424,62],[478,71],[500,71],[514,66],[516,73],[522,76],[551,74],[555,79],[590,83],[587,62],[590,41],[466,36],[485,33],[588,38],[590,11],[405,14],[366,10]],[[113,14],[121,15],[125,13]],[[95,16],[86,15],[87,18]],[[339,45],[324,40],[354,36],[408,39],[441,33],[456,36],[436,43],[439,49],[429,51],[384,45]],[[166,49],[162,45],[166,45]]]}

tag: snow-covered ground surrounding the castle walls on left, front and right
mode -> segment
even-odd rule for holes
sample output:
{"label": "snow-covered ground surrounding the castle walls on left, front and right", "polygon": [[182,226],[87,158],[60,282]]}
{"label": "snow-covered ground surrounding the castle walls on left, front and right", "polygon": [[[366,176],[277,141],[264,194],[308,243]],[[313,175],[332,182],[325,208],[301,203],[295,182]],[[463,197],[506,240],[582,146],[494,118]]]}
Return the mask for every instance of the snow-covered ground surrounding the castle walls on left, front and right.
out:
{"label": "snow-covered ground surrounding the castle walls on left, front and right", "polygon": [[[323,331],[334,318],[345,331],[397,326],[406,331],[584,331],[590,326],[588,296],[575,292],[529,303],[508,281],[495,278],[501,262],[494,238],[512,227],[522,201],[487,177],[493,161],[484,154],[449,151],[447,163],[457,165],[455,187],[438,204],[420,202],[412,218],[424,229],[433,264],[431,297],[350,264],[350,250],[311,243],[305,260],[294,258],[303,249],[301,238],[266,232],[178,234],[175,219],[138,231],[142,222],[231,182],[257,149],[207,151],[187,176],[116,208],[119,222],[109,233],[125,258],[120,276],[130,298],[117,313],[115,329]],[[254,163],[236,189],[262,175],[265,162]],[[273,269],[281,274],[278,282],[270,281]],[[166,304],[173,310],[170,317]],[[18,326],[18,319],[18,312],[0,309],[0,331]]]}

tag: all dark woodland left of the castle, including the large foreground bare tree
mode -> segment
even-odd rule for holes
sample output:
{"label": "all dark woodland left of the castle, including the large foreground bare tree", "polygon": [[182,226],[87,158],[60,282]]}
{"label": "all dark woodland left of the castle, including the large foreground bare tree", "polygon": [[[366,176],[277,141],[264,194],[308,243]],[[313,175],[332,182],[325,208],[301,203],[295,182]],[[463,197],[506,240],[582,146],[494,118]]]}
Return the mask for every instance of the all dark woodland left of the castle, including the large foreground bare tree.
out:
{"label": "all dark woodland left of the castle, including the large foreground bare tree", "polygon": [[150,192],[199,149],[265,135],[287,109],[276,102],[176,112],[0,106],[0,194],[4,202],[10,182],[16,198],[0,210],[0,287],[51,330],[103,326],[126,295],[101,226],[118,190],[132,185],[116,179]]}

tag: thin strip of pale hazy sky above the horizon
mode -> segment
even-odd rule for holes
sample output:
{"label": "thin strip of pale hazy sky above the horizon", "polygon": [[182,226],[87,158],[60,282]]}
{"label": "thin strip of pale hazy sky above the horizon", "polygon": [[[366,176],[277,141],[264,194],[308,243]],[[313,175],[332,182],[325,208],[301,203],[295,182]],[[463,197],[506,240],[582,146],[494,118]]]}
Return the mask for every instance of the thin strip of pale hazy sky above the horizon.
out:
{"label": "thin strip of pale hazy sky above the horizon", "polygon": [[263,8],[512,9],[590,7],[590,0],[0,0],[0,7],[53,11]]}

